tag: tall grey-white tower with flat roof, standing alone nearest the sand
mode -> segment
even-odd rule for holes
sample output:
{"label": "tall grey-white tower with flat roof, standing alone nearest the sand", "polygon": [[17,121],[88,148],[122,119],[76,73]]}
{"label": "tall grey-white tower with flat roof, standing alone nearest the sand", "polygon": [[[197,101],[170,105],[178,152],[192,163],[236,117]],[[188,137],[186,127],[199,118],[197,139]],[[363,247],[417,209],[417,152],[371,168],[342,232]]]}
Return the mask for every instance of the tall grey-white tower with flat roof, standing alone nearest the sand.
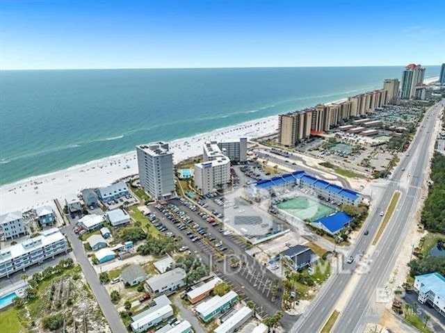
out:
{"label": "tall grey-white tower with flat roof, standing alone nearest the sand", "polygon": [[140,186],[154,199],[168,199],[175,193],[173,153],[168,143],[136,146]]}

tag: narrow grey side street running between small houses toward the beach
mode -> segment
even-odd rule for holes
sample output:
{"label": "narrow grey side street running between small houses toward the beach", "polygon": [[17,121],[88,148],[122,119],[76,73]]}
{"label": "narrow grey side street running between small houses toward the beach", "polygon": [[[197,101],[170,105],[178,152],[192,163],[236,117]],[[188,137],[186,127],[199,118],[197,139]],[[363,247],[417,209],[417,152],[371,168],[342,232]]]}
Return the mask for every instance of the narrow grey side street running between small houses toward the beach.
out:
{"label": "narrow grey side street running between small houses toward the beach", "polygon": [[72,226],[68,225],[63,229],[60,229],[60,231],[63,232],[68,241],[70,241],[74,257],[76,258],[77,263],[81,266],[83,275],[85,275],[88,284],[90,284],[91,291],[95,295],[95,299],[99,304],[100,309],[102,309],[102,313],[104,314],[108,325],[110,325],[111,332],[127,332],[122,320],[120,320],[118,310],[116,310],[111,302],[108,291],[106,291],[105,287],[99,282],[99,277],[97,277],[96,271],[92,268],[85,250],[83,250],[83,244],[77,235],[74,234]]}

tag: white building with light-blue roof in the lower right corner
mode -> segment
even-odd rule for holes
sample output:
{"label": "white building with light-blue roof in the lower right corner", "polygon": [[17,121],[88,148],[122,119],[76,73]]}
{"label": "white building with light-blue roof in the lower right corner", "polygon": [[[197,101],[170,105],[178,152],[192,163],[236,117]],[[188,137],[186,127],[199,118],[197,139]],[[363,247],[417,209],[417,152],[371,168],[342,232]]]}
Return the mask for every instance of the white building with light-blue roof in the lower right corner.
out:
{"label": "white building with light-blue roof in the lower right corner", "polygon": [[445,316],[445,277],[439,273],[417,275],[414,290],[419,293],[419,302],[432,305],[439,314]]}

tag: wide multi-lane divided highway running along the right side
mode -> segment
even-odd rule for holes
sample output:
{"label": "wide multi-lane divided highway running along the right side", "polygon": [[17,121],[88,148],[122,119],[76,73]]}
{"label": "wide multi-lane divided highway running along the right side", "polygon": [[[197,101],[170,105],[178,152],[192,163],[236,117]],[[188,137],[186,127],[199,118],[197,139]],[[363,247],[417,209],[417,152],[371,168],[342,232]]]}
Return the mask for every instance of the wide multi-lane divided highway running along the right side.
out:
{"label": "wide multi-lane divided highway running along the right side", "polygon": [[[375,250],[371,256],[369,271],[359,277],[357,288],[353,292],[348,306],[341,312],[333,332],[361,332],[362,320],[369,314],[370,302],[375,295],[376,288],[385,284],[394,267],[398,248],[410,225],[407,220],[419,202],[424,178],[423,172],[428,167],[428,147],[435,125],[435,122],[430,119],[437,117],[440,108],[436,105],[427,111],[423,120],[423,129],[420,129],[416,134],[407,154],[401,159],[401,163],[394,170],[391,179],[387,181],[387,188],[380,197],[380,201],[375,205],[375,207],[387,207],[394,191],[401,190],[402,195],[394,216],[380,238],[378,250]],[[401,180],[405,181],[405,179],[408,179],[408,188],[400,186]],[[360,251],[368,249],[380,222],[380,209],[373,209],[363,228],[369,230],[369,235],[361,234],[359,236],[350,252],[353,256],[357,257]],[[355,260],[352,265],[344,264],[343,270],[332,276],[307,313],[292,327],[291,332],[318,332],[321,330],[327,318],[330,317],[337,300],[341,298],[343,290],[350,282],[351,272],[359,264],[357,261],[359,260]]]}

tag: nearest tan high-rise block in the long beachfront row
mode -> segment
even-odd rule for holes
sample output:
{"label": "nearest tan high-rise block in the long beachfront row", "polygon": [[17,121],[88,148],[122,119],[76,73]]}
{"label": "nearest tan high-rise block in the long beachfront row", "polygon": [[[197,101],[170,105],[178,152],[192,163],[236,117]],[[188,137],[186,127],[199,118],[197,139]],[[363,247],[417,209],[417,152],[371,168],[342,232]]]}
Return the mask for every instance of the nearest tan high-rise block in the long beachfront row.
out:
{"label": "nearest tan high-rise block in the long beachfront row", "polygon": [[301,140],[309,138],[312,127],[312,110],[296,111],[280,115],[280,145],[293,147]]}

